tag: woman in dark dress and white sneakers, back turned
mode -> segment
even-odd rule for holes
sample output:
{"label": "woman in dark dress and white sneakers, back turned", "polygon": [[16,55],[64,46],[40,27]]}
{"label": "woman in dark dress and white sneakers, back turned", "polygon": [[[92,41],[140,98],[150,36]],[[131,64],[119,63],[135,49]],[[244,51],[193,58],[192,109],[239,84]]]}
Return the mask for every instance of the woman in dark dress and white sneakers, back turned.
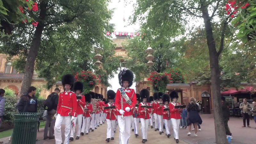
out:
{"label": "woman in dark dress and white sneakers, back turned", "polygon": [[201,117],[199,116],[199,107],[198,105],[196,104],[196,99],[195,98],[190,98],[190,103],[188,103],[188,136],[191,135],[191,124],[194,125],[194,128],[195,128],[195,134],[194,136],[197,137],[197,124],[196,123],[199,123],[199,124],[202,124],[202,119]]}

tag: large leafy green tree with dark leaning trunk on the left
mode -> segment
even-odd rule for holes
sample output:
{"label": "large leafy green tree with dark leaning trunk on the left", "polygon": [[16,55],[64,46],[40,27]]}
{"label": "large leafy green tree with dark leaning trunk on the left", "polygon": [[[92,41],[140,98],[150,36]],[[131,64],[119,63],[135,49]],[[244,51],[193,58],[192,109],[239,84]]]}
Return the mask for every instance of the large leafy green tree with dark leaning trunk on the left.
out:
{"label": "large leafy green tree with dark leaning trunk on the left", "polygon": [[[107,8],[107,2],[107,0],[39,1],[39,11],[34,16],[38,21],[36,28],[20,24],[13,30],[10,38],[3,40],[1,46],[1,52],[8,54],[10,58],[19,56],[16,64],[25,64],[20,93],[24,93],[31,85],[34,66],[41,71],[50,72],[51,68],[59,68],[60,65],[60,69],[66,69],[67,66],[76,67],[74,64],[81,60],[76,54],[84,54],[84,57],[92,60],[92,55],[87,56],[87,52],[92,52],[94,46],[102,45],[106,41],[104,31],[113,29],[113,25],[108,23],[111,11]],[[55,43],[57,41],[58,44]],[[61,56],[57,57],[57,55]],[[45,61],[45,58],[53,57],[60,58],[57,64],[56,61],[49,59]],[[82,60],[83,69],[89,69],[92,65],[91,60],[88,59]],[[41,66],[45,69],[41,69]],[[54,82],[53,75],[50,75],[51,78],[46,78],[51,83]]]}

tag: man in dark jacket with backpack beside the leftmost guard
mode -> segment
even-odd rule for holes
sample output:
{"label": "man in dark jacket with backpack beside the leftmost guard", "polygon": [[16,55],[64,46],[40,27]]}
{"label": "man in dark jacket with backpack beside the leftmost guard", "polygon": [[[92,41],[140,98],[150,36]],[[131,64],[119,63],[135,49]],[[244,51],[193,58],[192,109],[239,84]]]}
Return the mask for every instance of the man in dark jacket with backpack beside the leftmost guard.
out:
{"label": "man in dark jacket with backpack beside the leftmost guard", "polygon": [[[55,125],[55,118],[53,118],[54,114],[56,114],[57,106],[58,106],[58,100],[59,100],[59,94],[60,89],[55,88],[54,92],[52,94],[48,95],[47,99],[44,102],[44,109],[47,110],[46,115],[46,123],[44,127],[44,140],[45,139],[54,139],[53,133],[54,133],[54,125]],[[49,137],[47,136],[48,133],[48,127],[50,126],[49,130]]]}

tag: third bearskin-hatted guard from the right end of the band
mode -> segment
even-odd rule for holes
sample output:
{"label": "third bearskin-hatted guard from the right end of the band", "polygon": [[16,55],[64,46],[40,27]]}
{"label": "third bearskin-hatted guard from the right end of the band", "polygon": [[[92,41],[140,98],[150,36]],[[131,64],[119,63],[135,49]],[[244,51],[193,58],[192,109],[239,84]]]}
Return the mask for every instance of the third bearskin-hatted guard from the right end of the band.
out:
{"label": "third bearskin-hatted guard from the right end of the band", "polygon": [[164,122],[163,122],[163,112],[162,112],[162,106],[163,106],[163,100],[162,100],[163,92],[158,92],[158,102],[156,103],[156,114],[159,122],[159,134],[161,135],[164,133]]}

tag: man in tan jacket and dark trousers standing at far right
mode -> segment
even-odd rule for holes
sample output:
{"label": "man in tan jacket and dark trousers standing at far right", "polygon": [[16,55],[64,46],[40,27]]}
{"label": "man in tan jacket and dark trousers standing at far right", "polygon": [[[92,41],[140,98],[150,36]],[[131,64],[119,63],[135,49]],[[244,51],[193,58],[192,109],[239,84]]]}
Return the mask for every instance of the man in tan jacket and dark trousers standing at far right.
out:
{"label": "man in tan jacket and dark trousers standing at far right", "polygon": [[240,104],[239,108],[242,111],[243,116],[243,122],[244,125],[242,127],[245,127],[245,121],[247,120],[247,127],[250,127],[250,116],[251,116],[251,109],[252,107],[247,102],[247,99],[244,99],[243,102]]}

